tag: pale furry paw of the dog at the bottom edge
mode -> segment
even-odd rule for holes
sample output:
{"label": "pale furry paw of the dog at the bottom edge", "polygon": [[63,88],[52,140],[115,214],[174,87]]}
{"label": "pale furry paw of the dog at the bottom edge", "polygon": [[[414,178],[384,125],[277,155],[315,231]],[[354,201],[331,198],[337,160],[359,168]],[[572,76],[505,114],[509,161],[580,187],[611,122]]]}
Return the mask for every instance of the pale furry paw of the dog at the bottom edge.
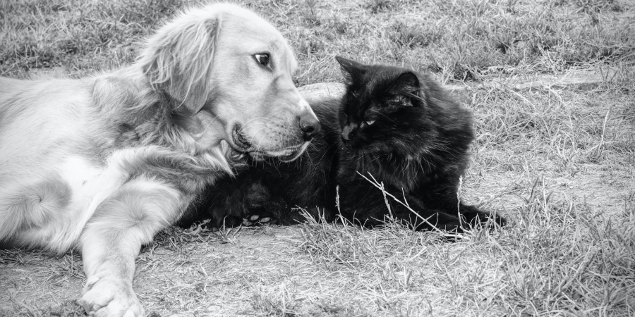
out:
{"label": "pale furry paw of the dog at the bottom edge", "polygon": [[89,278],[78,304],[83,306],[88,316],[145,316],[132,286],[115,278]]}

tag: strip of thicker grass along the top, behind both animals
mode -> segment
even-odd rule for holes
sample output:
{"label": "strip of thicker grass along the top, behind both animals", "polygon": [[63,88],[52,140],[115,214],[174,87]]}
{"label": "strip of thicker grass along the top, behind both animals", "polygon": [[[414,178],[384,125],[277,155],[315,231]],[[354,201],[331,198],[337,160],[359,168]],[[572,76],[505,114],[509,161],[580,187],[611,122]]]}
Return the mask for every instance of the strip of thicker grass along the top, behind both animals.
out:
{"label": "strip of thicker grass along the top, behind both animals", "polygon": [[[133,61],[137,42],[158,21],[199,2],[4,1],[1,74],[121,66]],[[451,81],[635,61],[635,13],[624,0],[238,2],[289,38],[301,85],[337,79],[336,54],[431,70]]]}

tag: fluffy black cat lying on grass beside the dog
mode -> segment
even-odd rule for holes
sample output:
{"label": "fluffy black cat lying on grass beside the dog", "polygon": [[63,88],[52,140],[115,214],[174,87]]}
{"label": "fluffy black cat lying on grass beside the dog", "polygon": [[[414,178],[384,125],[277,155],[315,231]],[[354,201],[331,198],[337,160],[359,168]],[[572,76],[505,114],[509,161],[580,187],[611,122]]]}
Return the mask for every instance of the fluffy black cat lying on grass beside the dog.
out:
{"label": "fluffy black cat lying on grass beside the dog", "polygon": [[[309,149],[291,163],[254,161],[209,187],[181,220],[182,226],[212,219],[234,226],[259,215],[292,224],[303,217],[374,226],[390,212],[418,230],[430,223],[457,230],[461,221],[505,220],[459,201],[459,177],[473,141],[471,113],[453,101],[428,75],[392,66],[369,66],[337,57],[346,77],[342,99],[312,104],[322,123]],[[383,182],[388,198],[361,175]],[[339,194],[339,209],[337,206]],[[459,220],[459,214],[461,220]],[[422,220],[428,218],[428,222]]]}

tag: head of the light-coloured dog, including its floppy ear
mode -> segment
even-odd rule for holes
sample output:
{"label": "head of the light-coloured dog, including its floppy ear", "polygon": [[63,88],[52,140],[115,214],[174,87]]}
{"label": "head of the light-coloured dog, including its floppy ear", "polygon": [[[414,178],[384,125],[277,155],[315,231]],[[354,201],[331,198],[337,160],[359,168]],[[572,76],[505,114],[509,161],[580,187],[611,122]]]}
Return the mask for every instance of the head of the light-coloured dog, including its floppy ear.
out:
{"label": "head of the light-coloured dog, including its floppy ear", "polygon": [[320,130],[293,83],[289,44],[244,8],[212,4],[183,13],[150,39],[140,64],[175,112],[188,113],[201,147],[224,139],[255,158],[292,161]]}

